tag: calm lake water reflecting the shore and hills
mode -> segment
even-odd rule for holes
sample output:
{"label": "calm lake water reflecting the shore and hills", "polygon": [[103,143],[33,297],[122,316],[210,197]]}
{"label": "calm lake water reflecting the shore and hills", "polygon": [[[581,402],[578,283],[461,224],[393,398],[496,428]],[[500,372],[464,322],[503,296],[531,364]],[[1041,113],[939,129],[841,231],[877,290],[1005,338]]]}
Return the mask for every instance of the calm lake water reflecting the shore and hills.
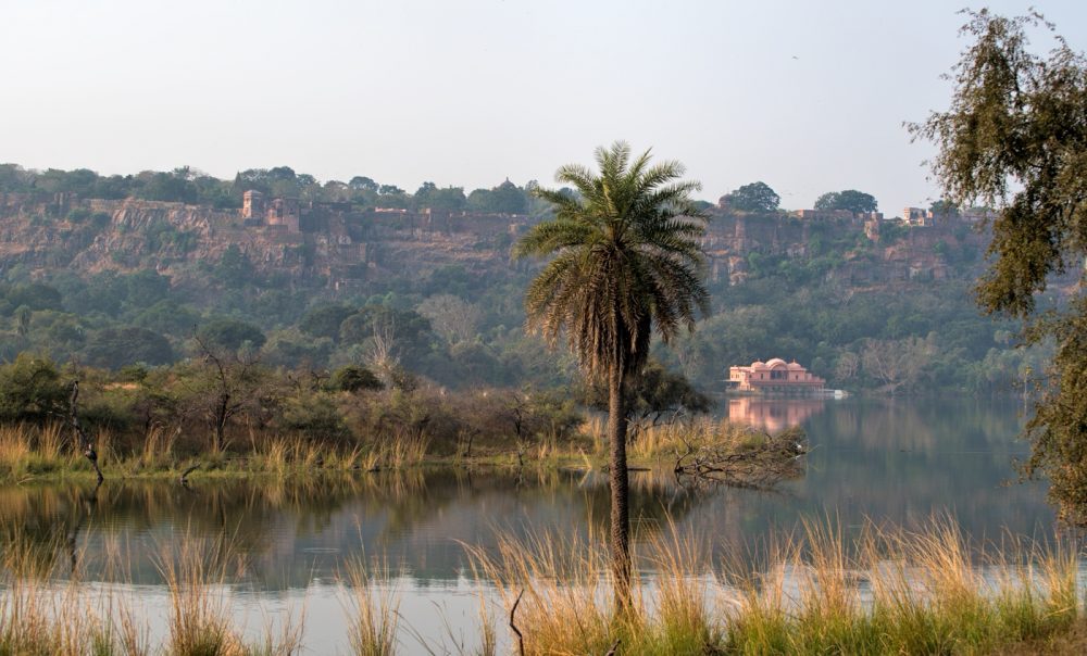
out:
{"label": "calm lake water reflecting the shore and hills", "polygon": [[[1013,459],[1026,454],[1015,439],[1020,411],[1011,400],[734,400],[723,414],[772,431],[795,424],[808,430],[805,475],[770,493],[689,492],[670,475],[636,472],[636,540],[671,518],[727,553],[792,530],[805,517],[830,515],[847,527],[865,518],[913,526],[940,513],[978,539],[999,539],[1004,530],[1051,534],[1054,514],[1044,487],[1015,482]],[[529,476],[520,484],[512,474],[487,469],[272,484],[193,479],[189,489],[121,481],[97,491],[0,488],[0,527],[18,527],[43,545],[58,531],[74,538],[63,557],[83,560],[88,584],[101,576],[103,554],[120,545],[130,554],[132,591],[151,615],[165,604],[155,566],[163,545],[185,534],[228,542],[247,563],[229,582],[235,611],[255,616],[260,629],[262,614],[304,606],[305,643],[325,653],[345,644],[334,581],[346,556],[380,554],[402,565],[401,615],[432,649],[437,641],[461,640],[461,627],[471,644],[485,584],[466,576],[462,543],[493,544],[496,529],[603,534],[608,517],[607,481],[595,472]],[[425,652],[411,640],[405,647]]]}

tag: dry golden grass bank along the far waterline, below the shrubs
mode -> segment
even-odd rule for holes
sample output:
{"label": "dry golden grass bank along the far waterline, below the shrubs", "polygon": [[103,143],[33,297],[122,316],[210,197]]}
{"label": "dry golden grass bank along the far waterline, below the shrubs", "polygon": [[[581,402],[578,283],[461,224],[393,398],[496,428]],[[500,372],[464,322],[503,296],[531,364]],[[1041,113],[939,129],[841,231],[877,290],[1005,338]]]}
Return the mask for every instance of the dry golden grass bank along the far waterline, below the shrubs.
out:
{"label": "dry golden grass bank along the far waterline, below the shrubs", "polygon": [[[690,449],[757,449],[766,436],[727,421],[697,419],[645,427],[630,443],[636,467],[669,466]],[[109,431],[95,434],[98,462],[107,478],[177,478],[190,476],[311,476],[335,472],[400,470],[423,466],[493,466],[558,469],[602,468],[607,444],[602,422],[586,421],[570,436],[489,440],[450,450],[421,430],[390,430],[367,439],[322,440],[299,433],[247,431],[223,450],[198,449],[177,430],[153,428],[139,439],[118,440]],[[0,426],[0,484],[60,478],[91,478],[93,470],[72,446],[61,424]]]}

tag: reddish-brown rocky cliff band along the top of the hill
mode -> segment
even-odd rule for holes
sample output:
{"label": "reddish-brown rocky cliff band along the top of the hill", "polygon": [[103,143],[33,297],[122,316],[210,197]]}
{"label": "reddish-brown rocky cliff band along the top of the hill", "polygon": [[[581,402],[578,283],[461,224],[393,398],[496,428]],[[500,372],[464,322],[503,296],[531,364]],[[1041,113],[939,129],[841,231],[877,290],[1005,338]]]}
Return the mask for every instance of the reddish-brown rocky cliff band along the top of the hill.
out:
{"label": "reddish-brown rocky cliff band along the top of the hill", "polygon": [[[301,227],[292,229],[245,220],[233,210],[180,203],[58,198],[33,204],[0,197],[0,266],[78,274],[153,268],[185,282],[233,250],[259,272],[342,289],[384,277],[422,278],[453,264],[476,275],[509,272],[510,247],[529,225],[515,215],[360,212],[339,205],[310,205],[301,218]],[[987,240],[954,220],[888,229],[723,214],[712,217],[704,247],[717,280],[742,281],[759,258],[811,263],[837,254],[828,261],[828,277],[870,286],[976,274]]]}

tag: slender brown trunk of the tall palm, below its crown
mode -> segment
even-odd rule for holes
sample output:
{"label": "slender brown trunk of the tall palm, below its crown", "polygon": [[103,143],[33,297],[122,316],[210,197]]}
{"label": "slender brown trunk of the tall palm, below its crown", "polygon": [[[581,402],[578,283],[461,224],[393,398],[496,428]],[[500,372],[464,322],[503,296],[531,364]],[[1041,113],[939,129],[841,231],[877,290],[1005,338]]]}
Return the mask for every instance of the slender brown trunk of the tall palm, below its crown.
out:
{"label": "slender brown trunk of the tall palm, below its crown", "polygon": [[630,517],[626,470],[626,407],[624,374],[619,367],[608,380],[608,441],[611,444],[611,557],[616,610],[630,605]]}

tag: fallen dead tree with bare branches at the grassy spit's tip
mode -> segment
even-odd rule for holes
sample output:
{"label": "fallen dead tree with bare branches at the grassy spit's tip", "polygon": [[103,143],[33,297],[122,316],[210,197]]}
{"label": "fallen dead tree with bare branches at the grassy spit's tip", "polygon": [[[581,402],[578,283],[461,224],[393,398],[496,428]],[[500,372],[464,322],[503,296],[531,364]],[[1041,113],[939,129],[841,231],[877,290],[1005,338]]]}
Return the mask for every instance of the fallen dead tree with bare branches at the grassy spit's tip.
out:
{"label": "fallen dead tree with bare branches at the grassy spit's tip", "polygon": [[803,471],[808,440],[800,428],[776,436],[753,433],[758,441],[729,440],[723,444],[691,445],[677,453],[676,480],[680,484],[716,483],[733,488],[773,489],[778,482]]}

